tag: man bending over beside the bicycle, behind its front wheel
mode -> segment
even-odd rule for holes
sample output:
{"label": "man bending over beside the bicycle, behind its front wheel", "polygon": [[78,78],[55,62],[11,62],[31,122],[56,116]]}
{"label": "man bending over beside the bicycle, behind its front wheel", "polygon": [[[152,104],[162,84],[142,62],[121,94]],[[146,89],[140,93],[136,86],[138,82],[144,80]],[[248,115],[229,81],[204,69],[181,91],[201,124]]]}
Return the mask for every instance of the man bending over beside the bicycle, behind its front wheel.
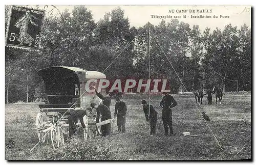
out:
{"label": "man bending over beside the bicycle, behind its front wheel", "polygon": [[83,117],[86,115],[86,112],[78,109],[76,111],[70,112],[70,116],[68,118],[69,121],[69,136],[71,137],[73,134],[77,133],[76,124],[78,123],[78,119],[83,128],[86,128],[86,125],[83,123]]}

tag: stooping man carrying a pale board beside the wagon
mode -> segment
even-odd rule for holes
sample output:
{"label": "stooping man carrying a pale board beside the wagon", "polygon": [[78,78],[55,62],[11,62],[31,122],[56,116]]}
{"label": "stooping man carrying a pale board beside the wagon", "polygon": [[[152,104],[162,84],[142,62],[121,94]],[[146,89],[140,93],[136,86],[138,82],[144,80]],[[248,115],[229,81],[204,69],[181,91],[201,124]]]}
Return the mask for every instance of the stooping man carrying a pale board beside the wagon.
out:
{"label": "stooping man carrying a pale board beside the wagon", "polygon": [[[96,112],[97,112],[96,123],[99,122],[100,114],[101,114],[101,121],[111,119],[110,109],[106,105],[104,104],[96,105],[96,103],[92,102],[91,107],[96,108]],[[102,136],[107,136],[110,134],[110,132],[111,132],[111,123],[101,126]]]}

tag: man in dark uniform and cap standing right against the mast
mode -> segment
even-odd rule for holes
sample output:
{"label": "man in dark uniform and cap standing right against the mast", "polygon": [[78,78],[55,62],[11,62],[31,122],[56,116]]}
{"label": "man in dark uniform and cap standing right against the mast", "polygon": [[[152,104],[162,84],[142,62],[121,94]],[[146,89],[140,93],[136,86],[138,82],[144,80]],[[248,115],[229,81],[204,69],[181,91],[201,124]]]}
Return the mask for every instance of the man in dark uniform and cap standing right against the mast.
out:
{"label": "man in dark uniform and cap standing right against the mast", "polygon": [[[143,106],[143,111],[145,114],[146,121],[150,122],[150,135],[154,135],[156,134],[157,112],[155,111],[152,105],[147,104],[146,100],[142,100],[141,105]],[[150,106],[150,114],[148,114],[149,106]]]}

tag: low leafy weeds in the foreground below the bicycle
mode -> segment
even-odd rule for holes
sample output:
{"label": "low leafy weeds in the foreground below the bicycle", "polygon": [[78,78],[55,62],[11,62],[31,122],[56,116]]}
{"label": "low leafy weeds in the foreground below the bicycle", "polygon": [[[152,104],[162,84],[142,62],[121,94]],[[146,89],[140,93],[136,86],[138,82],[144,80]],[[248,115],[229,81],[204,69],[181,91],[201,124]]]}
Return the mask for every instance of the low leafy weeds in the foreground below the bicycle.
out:
{"label": "low leafy weeds in the foreground below the bicycle", "polygon": [[114,160],[108,137],[95,137],[84,141],[77,137],[68,139],[57,150],[44,151],[46,160]]}

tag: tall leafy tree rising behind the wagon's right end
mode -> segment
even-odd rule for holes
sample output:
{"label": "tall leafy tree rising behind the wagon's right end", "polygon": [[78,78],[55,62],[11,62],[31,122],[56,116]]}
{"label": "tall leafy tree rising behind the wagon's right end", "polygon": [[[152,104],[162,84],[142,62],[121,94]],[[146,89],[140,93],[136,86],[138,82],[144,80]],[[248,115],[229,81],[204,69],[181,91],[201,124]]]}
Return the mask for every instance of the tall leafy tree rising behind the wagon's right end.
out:
{"label": "tall leafy tree rising behind the wagon's right end", "polygon": [[[109,56],[102,56],[101,60],[110,61],[110,63],[115,60],[110,66],[111,69],[106,70],[109,77],[128,77],[133,74],[134,38],[135,36],[130,31],[129,19],[124,18],[124,11],[120,7],[106,13],[103,19],[97,22],[95,45],[99,48],[108,47],[113,53],[111,59]],[[91,60],[96,60],[92,54],[89,56]],[[102,72],[102,70],[99,71]]]}

